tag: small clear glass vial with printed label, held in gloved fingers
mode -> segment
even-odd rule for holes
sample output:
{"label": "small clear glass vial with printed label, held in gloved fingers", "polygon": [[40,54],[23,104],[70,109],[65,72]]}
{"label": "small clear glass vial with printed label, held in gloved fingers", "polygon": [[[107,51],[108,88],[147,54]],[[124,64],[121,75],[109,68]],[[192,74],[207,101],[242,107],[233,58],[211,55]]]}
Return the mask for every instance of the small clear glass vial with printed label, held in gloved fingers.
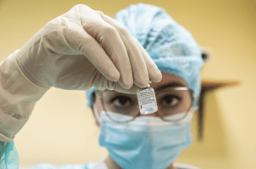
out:
{"label": "small clear glass vial with printed label, held in gloved fingers", "polygon": [[143,115],[151,114],[158,110],[154,89],[150,87],[150,83],[148,83],[148,87],[141,88],[137,91],[137,101],[140,112]]}

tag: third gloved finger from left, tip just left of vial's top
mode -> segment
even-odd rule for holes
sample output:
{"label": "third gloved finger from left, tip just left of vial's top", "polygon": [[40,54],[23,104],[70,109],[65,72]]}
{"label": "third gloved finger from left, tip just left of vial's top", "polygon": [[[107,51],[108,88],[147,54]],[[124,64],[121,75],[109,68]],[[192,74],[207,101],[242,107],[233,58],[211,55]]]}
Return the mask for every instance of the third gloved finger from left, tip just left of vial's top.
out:
{"label": "third gloved finger from left, tip just left of vial's top", "polygon": [[[119,24],[117,20],[113,20],[105,14],[102,15],[102,20],[105,20],[119,32],[119,36],[124,42],[129,55],[134,83],[138,87],[147,87],[149,82],[147,65],[145,64],[143,54],[138,48],[137,43],[133,40],[131,33],[125,28],[125,26]],[[122,76],[122,72],[120,72],[120,74]]]}

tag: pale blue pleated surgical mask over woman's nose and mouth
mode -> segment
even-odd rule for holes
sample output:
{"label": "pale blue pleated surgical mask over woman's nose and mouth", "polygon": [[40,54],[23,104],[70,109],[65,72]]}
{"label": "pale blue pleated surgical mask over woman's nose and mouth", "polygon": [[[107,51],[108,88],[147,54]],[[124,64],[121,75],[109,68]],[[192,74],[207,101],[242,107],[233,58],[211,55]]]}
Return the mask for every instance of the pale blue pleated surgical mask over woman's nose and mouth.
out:
{"label": "pale blue pleated surgical mask over woman's nose and mouth", "polygon": [[[101,124],[100,145],[108,149],[109,155],[124,169],[166,169],[192,143],[190,125],[193,112],[175,123],[151,116],[116,123],[108,118],[105,111],[101,112],[100,117],[96,106],[94,110]],[[127,115],[108,114],[124,120],[129,118]],[[170,118],[175,119],[177,115]]]}

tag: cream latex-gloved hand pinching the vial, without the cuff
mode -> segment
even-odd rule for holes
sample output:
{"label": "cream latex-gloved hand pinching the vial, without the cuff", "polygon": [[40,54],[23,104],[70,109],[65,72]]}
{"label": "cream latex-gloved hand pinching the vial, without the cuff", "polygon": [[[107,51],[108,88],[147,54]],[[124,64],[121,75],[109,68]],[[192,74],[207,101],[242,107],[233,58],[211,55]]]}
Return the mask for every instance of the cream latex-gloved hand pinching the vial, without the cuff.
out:
{"label": "cream latex-gloved hand pinching the vial, without the cuff", "polygon": [[125,26],[82,4],[49,21],[15,57],[27,78],[42,87],[136,93],[149,78],[161,80]]}

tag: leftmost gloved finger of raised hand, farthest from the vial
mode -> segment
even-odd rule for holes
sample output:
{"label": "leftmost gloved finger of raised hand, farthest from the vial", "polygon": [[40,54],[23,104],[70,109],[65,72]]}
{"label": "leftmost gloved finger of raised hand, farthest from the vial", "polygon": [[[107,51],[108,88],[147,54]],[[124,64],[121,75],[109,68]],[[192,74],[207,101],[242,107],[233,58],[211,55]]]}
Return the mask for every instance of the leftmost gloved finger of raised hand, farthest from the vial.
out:
{"label": "leftmost gloved finger of raised hand, farthest from the vial", "polygon": [[76,14],[78,5],[73,7],[67,14],[63,14],[64,17],[61,24],[62,32],[69,45],[81,51],[84,56],[95,65],[103,76],[106,76],[108,80],[116,82],[119,80],[119,70],[113,65],[111,59],[105,53],[101,45],[91,37],[83,26],[78,23],[79,14]]}

